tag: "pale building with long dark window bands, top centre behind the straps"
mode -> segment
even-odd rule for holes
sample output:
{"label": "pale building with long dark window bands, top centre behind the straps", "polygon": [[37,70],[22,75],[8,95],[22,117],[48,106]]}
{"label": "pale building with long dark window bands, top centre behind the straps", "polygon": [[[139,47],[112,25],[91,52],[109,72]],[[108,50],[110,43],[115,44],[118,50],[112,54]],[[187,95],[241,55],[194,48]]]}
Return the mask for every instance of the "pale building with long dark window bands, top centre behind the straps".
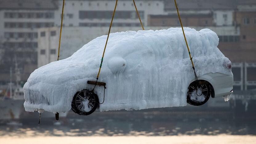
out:
{"label": "pale building with long dark window bands, top centre behind the straps", "polygon": [[[64,6],[64,26],[109,26],[115,0],[66,0]],[[136,0],[136,6],[147,26],[147,16],[164,14],[163,0]],[[57,0],[59,9],[55,11],[55,23],[59,26],[61,20],[62,0]],[[113,26],[140,26],[132,0],[119,0],[113,21]]]}

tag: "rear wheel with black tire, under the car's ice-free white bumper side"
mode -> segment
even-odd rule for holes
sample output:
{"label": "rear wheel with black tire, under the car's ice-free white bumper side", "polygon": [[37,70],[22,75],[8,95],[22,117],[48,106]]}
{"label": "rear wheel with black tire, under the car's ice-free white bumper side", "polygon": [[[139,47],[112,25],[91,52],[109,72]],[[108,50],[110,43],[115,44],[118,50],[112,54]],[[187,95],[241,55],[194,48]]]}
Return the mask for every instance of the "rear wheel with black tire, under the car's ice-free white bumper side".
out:
{"label": "rear wheel with black tire, under the car's ice-free white bumper side", "polygon": [[197,80],[190,83],[187,92],[187,103],[193,106],[205,104],[211,95],[210,83],[203,80]]}

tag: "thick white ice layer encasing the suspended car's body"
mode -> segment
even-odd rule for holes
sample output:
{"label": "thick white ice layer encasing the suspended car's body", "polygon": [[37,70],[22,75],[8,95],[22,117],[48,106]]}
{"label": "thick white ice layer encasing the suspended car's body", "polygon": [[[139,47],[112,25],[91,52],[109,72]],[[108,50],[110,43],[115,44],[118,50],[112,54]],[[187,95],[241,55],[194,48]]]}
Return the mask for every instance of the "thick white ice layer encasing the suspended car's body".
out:
{"label": "thick white ice layer encasing the suspended car's body", "polygon": [[[207,73],[232,74],[230,63],[209,29],[185,28],[198,77]],[[96,80],[106,35],[95,38],[71,57],[35,70],[24,86],[26,111],[66,112],[74,94],[91,90]],[[110,34],[99,81],[106,82],[104,110],[186,106],[187,88],[194,79],[181,28],[126,31]],[[94,92],[103,101],[104,88]]]}

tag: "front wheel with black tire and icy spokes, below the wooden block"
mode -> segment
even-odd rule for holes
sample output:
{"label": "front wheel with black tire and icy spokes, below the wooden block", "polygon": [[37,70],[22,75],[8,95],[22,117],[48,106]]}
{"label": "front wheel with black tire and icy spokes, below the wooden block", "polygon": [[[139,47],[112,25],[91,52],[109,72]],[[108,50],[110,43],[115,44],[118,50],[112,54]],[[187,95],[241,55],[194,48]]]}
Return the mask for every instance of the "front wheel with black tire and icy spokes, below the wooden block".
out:
{"label": "front wheel with black tire and icy spokes, below the wooden block", "polygon": [[[87,106],[84,106],[85,103],[87,103]],[[82,90],[82,91],[78,91],[74,95],[71,103],[71,109],[76,114],[89,115],[89,114],[92,114],[97,109],[98,105],[99,105],[99,99],[97,94],[95,94],[93,91],[90,91],[90,90]]]}

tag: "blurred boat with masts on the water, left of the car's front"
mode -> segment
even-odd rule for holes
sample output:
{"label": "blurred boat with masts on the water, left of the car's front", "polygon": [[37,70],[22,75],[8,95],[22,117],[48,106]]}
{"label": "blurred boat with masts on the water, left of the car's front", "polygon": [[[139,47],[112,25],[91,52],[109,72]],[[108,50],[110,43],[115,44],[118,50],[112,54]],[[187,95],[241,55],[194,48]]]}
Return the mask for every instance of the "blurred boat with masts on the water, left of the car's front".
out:
{"label": "blurred boat with masts on the water, left of the car's front", "polygon": [[[0,120],[14,121],[20,118],[38,118],[39,113],[29,113],[24,108],[24,93],[23,85],[21,82],[21,74],[18,69],[18,64],[15,64],[15,84],[12,81],[12,68],[10,68],[10,82],[6,90],[1,90],[4,93],[3,97],[0,97]],[[60,113],[59,117],[66,117],[66,113]],[[55,114],[45,112],[42,114],[42,118],[55,118]]]}

